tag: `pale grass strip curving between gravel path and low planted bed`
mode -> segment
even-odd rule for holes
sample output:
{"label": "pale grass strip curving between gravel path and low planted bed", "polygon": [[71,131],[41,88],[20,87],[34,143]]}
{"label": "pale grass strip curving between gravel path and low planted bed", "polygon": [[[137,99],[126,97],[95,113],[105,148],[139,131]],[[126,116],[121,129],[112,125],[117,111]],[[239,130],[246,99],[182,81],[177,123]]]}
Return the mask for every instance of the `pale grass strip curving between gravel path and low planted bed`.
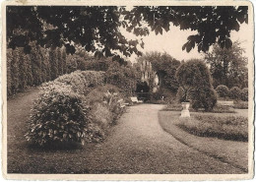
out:
{"label": "pale grass strip curving between gravel path and low planted bed", "polygon": [[[202,113],[203,114],[203,113]],[[204,113],[207,115],[206,113]],[[213,114],[213,113],[210,113]],[[222,115],[221,113],[215,113]],[[241,116],[243,113],[236,113]],[[191,113],[193,117],[195,113]],[[234,115],[225,113],[224,115]],[[186,130],[181,129],[178,125],[180,111],[160,111],[159,122],[161,128],[172,135],[176,140],[199,152],[204,152],[224,162],[232,164],[245,172],[248,170],[248,143],[241,141],[223,140],[214,137],[199,137]]]}

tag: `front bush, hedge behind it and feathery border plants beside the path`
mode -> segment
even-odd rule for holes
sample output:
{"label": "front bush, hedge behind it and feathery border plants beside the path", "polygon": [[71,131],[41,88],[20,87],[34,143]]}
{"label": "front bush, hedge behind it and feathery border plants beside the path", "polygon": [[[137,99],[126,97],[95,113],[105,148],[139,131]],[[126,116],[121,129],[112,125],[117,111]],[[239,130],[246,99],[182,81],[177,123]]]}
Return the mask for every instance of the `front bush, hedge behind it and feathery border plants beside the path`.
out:
{"label": "front bush, hedge behind it and feathery border plants beside the path", "polygon": [[124,111],[121,94],[103,82],[103,72],[76,71],[44,84],[32,108],[28,141],[47,146],[103,139]]}

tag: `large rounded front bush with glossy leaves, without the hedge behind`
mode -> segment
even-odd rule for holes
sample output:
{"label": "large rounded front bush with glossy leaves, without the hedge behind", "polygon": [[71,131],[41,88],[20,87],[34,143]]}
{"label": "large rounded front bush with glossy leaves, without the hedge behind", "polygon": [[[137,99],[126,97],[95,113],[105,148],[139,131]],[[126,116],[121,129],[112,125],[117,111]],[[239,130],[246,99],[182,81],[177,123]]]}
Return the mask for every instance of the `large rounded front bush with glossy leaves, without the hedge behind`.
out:
{"label": "large rounded front bush with glossy leaves, without the hedge behind", "polygon": [[88,108],[84,96],[64,84],[48,85],[34,102],[28,141],[35,145],[85,143]]}

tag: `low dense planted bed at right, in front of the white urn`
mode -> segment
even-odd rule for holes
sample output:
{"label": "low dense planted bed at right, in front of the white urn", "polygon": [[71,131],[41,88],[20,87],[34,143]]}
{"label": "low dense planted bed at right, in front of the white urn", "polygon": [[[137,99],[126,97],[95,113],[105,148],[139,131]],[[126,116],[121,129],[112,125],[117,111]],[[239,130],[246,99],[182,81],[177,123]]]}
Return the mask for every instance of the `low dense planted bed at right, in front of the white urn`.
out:
{"label": "low dense planted bed at right, in front of the white urn", "polygon": [[201,137],[216,137],[232,141],[248,141],[248,118],[217,113],[195,113],[191,118],[180,118],[183,130]]}

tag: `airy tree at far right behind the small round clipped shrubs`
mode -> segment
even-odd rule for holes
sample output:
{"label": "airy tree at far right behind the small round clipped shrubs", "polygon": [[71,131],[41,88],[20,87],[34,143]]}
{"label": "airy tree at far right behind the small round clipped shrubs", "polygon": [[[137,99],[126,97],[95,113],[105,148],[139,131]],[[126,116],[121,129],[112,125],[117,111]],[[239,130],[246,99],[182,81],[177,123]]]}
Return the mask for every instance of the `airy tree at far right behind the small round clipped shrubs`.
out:
{"label": "airy tree at far right behind the small round clipped shrubs", "polygon": [[240,42],[235,41],[229,49],[215,44],[213,50],[205,54],[214,79],[214,87],[248,87],[248,58],[243,56],[243,52]]}

